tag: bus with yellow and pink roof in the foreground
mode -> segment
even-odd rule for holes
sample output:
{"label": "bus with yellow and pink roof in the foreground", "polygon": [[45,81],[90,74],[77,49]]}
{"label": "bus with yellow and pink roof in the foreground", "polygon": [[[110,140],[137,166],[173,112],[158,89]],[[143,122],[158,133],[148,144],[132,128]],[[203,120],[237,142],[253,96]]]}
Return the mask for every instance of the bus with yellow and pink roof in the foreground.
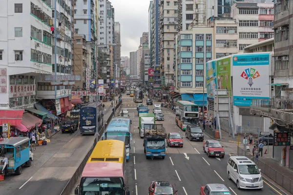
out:
{"label": "bus with yellow and pink roof in the foreground", "polygon": [[126,186],[126,152],[123,141],[97,142],[74,194],[130,195]]}

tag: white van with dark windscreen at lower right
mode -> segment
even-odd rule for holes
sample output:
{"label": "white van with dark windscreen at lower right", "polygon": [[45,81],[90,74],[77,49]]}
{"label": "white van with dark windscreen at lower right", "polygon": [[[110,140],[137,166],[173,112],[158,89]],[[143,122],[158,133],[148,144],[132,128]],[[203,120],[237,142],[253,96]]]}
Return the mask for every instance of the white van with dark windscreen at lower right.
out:
{"label": "white van with dark windscreen at lower right", "polygon": [[228,178],[238,189],[262,189],[263,177],[256,164],[246,156],[230,156],[227,164]]}

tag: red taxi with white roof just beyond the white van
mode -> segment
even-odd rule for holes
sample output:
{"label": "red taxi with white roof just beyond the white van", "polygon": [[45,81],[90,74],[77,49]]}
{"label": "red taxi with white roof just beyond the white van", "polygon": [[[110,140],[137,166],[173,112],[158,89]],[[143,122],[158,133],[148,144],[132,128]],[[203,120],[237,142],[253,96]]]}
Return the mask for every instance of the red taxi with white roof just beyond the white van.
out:
{"label": "red taxi with white roof just beyond the white van", "polygon": [[208,154],[208,157],[216,156],[224,158],[225,151],[223,147],[224,146],[221,146],[220,142],[216,140],[207,140],[203,145],[204,152]]}

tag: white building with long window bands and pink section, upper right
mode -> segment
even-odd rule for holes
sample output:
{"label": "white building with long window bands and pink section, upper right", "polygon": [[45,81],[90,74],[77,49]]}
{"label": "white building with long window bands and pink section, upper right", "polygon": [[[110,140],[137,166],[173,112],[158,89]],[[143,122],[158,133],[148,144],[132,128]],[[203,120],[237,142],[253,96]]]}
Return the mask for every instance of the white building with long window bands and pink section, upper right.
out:
{"label": "white building with long window bands and pink section, upper right", "polygon": [[235,2],[231,8],[231,17],[238,23],[238,40],[217,40],[216,45],[238,47],[238,52],[242,53],[244,47],[272,38],[273,10],[272,2]]}

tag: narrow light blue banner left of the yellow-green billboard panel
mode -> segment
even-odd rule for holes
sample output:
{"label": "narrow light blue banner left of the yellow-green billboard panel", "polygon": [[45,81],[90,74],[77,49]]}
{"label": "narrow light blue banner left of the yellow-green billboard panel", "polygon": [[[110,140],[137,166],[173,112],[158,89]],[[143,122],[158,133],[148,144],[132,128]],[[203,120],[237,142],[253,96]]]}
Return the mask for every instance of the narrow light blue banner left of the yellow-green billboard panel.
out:
{"label": "narrow light blue banner left of the yellow-green billboard panel", "polygon": [[207,83],[207,98],[214,98],[214,90],[217,89],[216,80],[216,60],[212,60],[206,63],[206,83]]}

